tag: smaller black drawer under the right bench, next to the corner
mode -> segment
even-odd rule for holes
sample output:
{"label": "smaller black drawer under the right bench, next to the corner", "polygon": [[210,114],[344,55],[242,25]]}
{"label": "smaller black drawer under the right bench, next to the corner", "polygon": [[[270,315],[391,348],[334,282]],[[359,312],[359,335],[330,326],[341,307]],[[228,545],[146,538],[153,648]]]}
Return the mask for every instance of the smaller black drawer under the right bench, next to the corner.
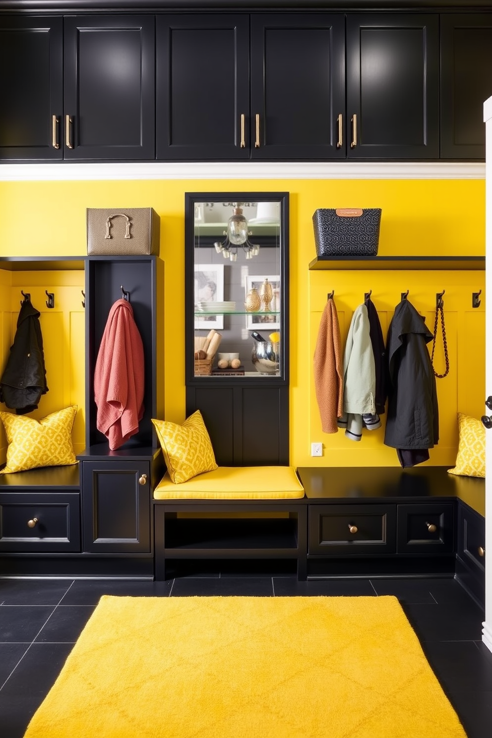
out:
{"label": "smaller black drawer under the right bench, next to the corner", "polygon": [[398,505],[398,554],[451,554],[454,505]]}

